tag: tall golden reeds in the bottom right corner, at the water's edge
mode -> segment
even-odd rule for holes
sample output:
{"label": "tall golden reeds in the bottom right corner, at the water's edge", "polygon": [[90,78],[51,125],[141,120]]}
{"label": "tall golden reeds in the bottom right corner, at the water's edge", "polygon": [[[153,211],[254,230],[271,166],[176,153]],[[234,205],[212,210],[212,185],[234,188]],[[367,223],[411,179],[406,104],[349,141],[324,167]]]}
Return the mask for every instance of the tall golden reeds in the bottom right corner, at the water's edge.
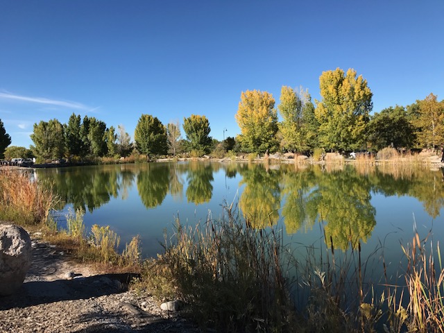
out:
{"label": "tall golden reeds in the bottom right corner, at the water's edge", "polygon": [[420,239],[415,232],[411,244],[401,248],[407,260],[405,285],[386,283],[381,298],[388,317],[384,330],[444,332],[444,270],[439,243],[434,248],[432,233]]}

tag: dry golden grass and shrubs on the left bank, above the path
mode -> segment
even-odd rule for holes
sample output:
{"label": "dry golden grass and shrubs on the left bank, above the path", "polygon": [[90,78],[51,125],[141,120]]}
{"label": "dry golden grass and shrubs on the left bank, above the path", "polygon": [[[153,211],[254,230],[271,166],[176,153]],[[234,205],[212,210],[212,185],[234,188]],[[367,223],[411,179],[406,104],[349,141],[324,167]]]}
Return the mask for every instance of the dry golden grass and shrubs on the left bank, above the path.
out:
{"label": "dry golden grass and shrubs on the left bank, above the path", "polygon": [[83,210],[69,210],[67,228],[58,228],[53,208],[58,198],[42,187],[29,170],[0,170],[0,221],[40,231],[46,241],[61,246],[82,262],[94,263],[107,271],[139,271],[140,241],[134,237],[118,253],[119,236],[109,226],[93,225],[85,230]]}

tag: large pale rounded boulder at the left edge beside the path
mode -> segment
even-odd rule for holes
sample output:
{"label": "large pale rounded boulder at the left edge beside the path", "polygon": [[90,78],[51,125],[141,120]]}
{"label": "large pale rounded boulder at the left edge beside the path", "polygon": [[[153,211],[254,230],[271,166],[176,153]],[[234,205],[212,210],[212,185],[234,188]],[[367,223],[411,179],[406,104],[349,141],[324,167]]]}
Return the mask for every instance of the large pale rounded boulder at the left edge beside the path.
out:
{"label": "large pale rounded boulder at the left edge beside the path", "polygon": [[0,224],[0,296],[22,286],[31,266],[31,238],[17,225]]}

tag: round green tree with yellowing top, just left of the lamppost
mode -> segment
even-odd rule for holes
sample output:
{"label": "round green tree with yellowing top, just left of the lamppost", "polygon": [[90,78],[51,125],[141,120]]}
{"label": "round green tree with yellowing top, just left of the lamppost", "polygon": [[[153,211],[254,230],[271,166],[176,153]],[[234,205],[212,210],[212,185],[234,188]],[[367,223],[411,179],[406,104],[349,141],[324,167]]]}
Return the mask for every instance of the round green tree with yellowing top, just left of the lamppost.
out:
{"label": "round green tree with yellowing top, just left of the lamppost", "polygon": [[210,152],[212,138],[210,137],[210,121],[207,117],[191,114],[191,117],[183,119],[183,130],[187,137],[189,151]]}

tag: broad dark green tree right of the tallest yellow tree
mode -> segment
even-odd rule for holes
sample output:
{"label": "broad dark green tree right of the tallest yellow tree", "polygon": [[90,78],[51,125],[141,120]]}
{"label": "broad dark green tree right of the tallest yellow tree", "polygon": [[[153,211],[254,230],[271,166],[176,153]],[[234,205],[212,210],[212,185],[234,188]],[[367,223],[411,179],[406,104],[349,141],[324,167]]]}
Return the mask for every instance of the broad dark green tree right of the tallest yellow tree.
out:
{"label": "broad dark green tree right of the tallest yellow tree", "polygon": [[368,123],[368,142],[375,151],[393,146],[411,148],[415,135],[414,128],[402,106],[386,108],[373,114]]}

